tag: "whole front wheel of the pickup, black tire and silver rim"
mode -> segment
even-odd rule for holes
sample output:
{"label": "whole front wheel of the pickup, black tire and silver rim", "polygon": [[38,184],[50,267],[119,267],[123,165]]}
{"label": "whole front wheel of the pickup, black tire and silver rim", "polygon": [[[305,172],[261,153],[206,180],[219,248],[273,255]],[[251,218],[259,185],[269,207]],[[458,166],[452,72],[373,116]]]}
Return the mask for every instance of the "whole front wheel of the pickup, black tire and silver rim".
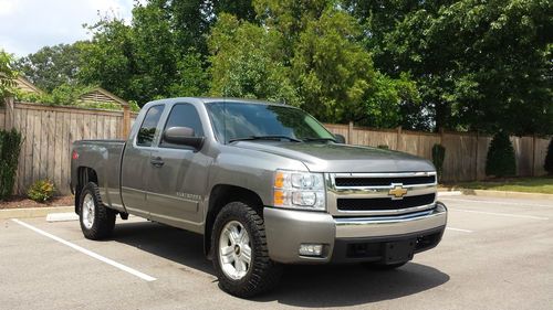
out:
{"label": "whole front wheel of the pickup, black tire and silver rim", "polygon": [[249,205],[231,202],[221,210],[211,246],[213,267],[225,291],[247,298],[276,286],[282,267],[269,258],[263,218]]}

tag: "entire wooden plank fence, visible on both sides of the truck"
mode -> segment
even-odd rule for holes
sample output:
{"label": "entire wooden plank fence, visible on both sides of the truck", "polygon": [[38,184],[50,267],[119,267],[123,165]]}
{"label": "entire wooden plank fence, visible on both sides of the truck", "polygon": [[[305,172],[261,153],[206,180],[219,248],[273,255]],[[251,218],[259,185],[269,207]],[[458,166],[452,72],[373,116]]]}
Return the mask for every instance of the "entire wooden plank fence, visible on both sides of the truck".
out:
{"label": "entire wooden plank fence, visible on both sides of the truck", "polygon": [[[24,193],[34,181],[48,178],[62,194],[70,192],[71,143],[80,139],[121,139],[125,136],[123,111],[15,103],[0,107],[0,128],[15,128],[23,137],[15,191]],[[136,118],[131,114],[129,122]],[[326,125],[346,137],[348,143],[388,146],[431,160],[435,143],[446,148],[442,181],[470,181],[486,178],[486,156],[491,137],[465,133],[429,133],[393,129],[372,129],[349,125]],[[542,175],[549,139],[511,137],[518,175]]]}

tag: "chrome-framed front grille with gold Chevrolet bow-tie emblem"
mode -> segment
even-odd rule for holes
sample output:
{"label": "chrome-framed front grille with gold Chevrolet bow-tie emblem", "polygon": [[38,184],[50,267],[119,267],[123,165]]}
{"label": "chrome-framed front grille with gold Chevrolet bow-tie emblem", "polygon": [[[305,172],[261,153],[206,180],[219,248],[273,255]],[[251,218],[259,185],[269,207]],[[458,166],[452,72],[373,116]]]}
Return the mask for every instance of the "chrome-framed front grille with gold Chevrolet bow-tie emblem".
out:
{"label": "chrome-framed front grille with gold Chevrolet bow-tie emblem", "polygon": [[327,173],[328,212],[335,216],[398,215],[429,210],[436,172]]}

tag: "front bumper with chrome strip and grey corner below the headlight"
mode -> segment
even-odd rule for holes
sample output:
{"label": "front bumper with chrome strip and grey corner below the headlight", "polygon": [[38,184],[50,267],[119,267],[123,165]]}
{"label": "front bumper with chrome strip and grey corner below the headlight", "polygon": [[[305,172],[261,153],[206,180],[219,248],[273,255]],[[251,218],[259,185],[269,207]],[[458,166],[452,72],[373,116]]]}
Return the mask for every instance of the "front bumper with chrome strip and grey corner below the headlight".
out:
{"label": "front bumper with chrome strip and grey corner below the headlight", "polygon": [[[442,229],[447,223],[447,209],[438,202],[432,210],[406,215],[346,218],[327,213],[265,207],[263,216],[271,259],[284,264],[324,264],[338,256],[334,250],[337,240],[374,238],[386,242],[387,238]],[[301,256],[301,244],[322,244],[323,255]]]}

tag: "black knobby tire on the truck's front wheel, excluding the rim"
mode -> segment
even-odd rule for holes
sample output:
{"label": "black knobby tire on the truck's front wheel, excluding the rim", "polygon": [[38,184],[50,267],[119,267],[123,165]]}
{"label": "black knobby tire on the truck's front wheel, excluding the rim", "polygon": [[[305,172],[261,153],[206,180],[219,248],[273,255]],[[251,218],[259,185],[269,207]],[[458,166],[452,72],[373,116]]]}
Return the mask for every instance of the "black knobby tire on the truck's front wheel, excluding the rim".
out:
{"label": "black knobby tire on the truck's front wheel, excluding the rim", "polygon": [[[225,274],[219,257],[221,232],[231,222],[238,222],[246,228],[251,248],[251,264],[247,274],[238,280]],[[242,202],[231,202],[223,206],[213,224],[211,246],[219,286],[228,293],[248,298],[267,292],[279,284],[283,268],[269,258],[263,218],[251,206]]]}

